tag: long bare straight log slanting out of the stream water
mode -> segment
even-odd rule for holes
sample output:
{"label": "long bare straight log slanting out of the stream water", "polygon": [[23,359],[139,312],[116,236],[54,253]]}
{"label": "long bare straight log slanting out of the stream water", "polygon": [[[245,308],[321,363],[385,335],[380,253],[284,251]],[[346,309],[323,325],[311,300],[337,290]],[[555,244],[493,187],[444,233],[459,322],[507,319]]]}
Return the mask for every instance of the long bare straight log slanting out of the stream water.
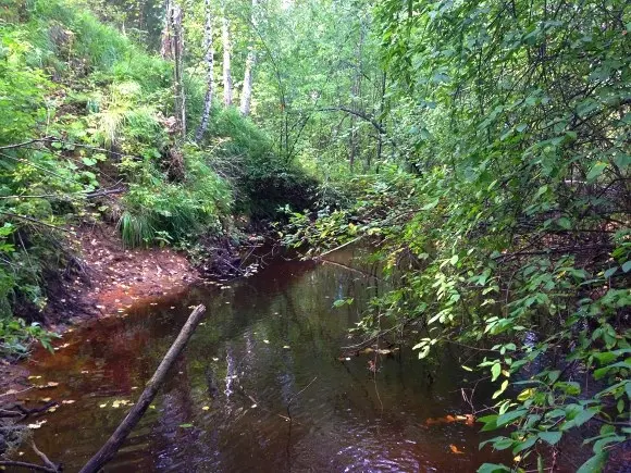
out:
{"label": "long bare straight log slanting out of the stream water", "polygon": [[116,451],[127,438],[127,435],[132,432],[132,430],[136,426],[156,395],[158,390],[164,383],[166,378],[166,373],[182,352],[188,339],[195,332],[197,324],[201,320],[201,316],[206,312],[206,308],[202,304],[199,304],[195,308],[195,310],[188,316],[188,320],[182,327],[180,335],[160,362],[158,370],[153,373],[149,383],[147,383],[147,387],[129,411],[129,413],[125,416],[121,425],[116,428],[116,431],[112,434],[112,436],[106,441],[106,444],[101,447],[101,449],[92,457],[90,460],[85,464],[85,466],[81,470],[79,473],[96,473],[100,471],[100,469],[114,457]]}

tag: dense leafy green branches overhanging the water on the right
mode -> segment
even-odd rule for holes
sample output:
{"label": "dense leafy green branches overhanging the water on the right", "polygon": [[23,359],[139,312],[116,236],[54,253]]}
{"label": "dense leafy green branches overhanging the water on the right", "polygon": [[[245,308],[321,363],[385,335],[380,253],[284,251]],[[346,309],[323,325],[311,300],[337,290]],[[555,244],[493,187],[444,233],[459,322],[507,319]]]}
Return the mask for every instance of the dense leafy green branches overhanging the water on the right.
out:
{"label": "dense leafy green branches overhanging the water on the right", "polygon": [[586,422],[602,428],[583,471],[631,438],[623,7],[380,2],[394,166],[285,235],[312,252],[378,246],[396,288],[375,310],[424,329],[421,359],[479,352],[497,385],[484,430],[502,430],[488,443],[515,470],[543,469],[540,447]]}

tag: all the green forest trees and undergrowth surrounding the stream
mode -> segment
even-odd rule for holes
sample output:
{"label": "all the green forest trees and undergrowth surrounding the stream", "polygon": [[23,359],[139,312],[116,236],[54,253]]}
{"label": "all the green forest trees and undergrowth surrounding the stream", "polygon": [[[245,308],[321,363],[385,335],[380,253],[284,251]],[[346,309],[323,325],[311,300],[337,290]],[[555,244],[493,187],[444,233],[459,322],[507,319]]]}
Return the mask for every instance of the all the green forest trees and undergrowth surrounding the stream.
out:
{"label": "all the green forest trees and undergrowth surrounding the stream", "polygon": [[[23,0],[0,12],[0,341],[47,344],[74,226],[199,257],[235,217],[392,278],[359,328],[469,347],[483,430],[554,470],[631,439],[623,0]],[[348,301],[350,302],[350,301]],[[27,321],[27,322],[25,322]],[[389,331],[388,333],[393,333]],[[423,362],[423,361],[419,361]],[[510,427],[510,428],[503,428]],[[533,466],[534,465],[534,466]]]}

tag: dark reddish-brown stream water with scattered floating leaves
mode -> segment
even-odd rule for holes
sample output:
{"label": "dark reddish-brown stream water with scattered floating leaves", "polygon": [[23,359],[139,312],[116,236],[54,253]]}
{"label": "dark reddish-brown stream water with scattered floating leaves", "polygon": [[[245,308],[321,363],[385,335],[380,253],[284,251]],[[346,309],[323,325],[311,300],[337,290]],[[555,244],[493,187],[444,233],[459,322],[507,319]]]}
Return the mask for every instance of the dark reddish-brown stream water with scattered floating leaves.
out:
{"label": "dark reddish-brown stream water with scattered floating leaves", "polygon": [[[379,291],[373,278],[281,260],[227,285],[100,321],[64,335],[54,356],[37,353],[32,374],[59,386],[30,391],[32,401],[74,401],[35,431],[39,449],[77,471],[201,302],[208,316],[107,471],[475,471],[500,460],[479,451],[479,425],[429,421],[469,412],[458,353],[419,361],[401,348],[339,360],[354,343],[347,329]],[[356,303],[334,309],[342,297]]]}

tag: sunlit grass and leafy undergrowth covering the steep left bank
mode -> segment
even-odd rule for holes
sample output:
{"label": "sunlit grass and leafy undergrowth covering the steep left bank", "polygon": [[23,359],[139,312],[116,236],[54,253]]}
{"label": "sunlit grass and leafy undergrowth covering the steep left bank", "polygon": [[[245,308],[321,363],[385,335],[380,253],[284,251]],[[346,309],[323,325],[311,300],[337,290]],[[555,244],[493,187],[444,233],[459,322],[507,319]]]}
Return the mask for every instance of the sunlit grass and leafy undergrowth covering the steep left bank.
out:
{"label": "sunlit grass and leafy undergrowth covering the steep left bank", "polygon": [[[110,7],[98,13],[122,17]],[[47,287],[77,269],[74,226],[110,221],[127,247],[186,247],[238,238],[234,213],[270,219],[289,194],[308,200],[313,181],[234,109],[213,107],[203,141],[181,138],[173,63],[85,3],[0,9],[0,353],[47,341],[13,316],[44,320]],[[185,80],[194,128],[205,86]]]}

